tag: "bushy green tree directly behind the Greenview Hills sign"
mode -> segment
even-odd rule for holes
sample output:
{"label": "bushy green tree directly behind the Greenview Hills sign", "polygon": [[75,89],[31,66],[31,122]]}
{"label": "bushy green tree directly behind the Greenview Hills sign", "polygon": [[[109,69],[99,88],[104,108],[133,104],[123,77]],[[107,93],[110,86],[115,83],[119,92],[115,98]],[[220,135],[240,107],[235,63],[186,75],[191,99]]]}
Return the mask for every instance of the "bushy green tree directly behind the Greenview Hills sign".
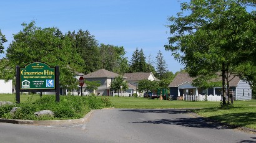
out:
{"label": "bushy green tree directly behind the Greenview Hills sign", "polygon": [[42,29],[35,22],[22,24],[23,30],[14,34],[14,40],[7,47],[6,57],[0,62],[0,73],[5,80],[15,78],[16,65],[24,67],[31,62],[45,62],[60,67],[60,84],[70,86],[69,80],[81,71],[82,58],[77,55],[68,37],[56,36],[56,27]]}

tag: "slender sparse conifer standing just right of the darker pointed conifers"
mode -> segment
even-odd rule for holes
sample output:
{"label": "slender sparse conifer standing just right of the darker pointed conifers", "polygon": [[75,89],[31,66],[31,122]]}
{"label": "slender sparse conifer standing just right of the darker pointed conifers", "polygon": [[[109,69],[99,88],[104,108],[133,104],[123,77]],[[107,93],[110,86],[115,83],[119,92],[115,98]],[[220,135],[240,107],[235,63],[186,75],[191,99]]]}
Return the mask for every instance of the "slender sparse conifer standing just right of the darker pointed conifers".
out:
{"label": "slender sparse conifer standing just right of the darker pointed conifers", "polygon": [[157,78],[159,78],[160,80],[162,79],[162,76],[164,75],[165,72],[167,72],[167,64],[164,60],[164,56],[162,55],[162,52],[159,50],[159,52],[157,53],[157,57],[156,57],[156,76]]}

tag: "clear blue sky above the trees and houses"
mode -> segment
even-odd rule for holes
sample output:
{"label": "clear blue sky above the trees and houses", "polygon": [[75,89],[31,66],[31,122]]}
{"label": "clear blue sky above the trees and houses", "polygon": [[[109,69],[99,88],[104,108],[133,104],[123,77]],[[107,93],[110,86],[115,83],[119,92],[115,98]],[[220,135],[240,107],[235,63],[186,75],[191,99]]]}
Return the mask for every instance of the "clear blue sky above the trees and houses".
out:
{"label": "clear blue sky above the trees and houses", "polygon": [[0,29],[8,40],[6,48],[12,35],[22,30],[23,22],[35,21],[37,27],[57,27],[63,33],[89,30],[99,44],[123,46],[128,60],[136,48],[142,48],[151,61],[160,50],[169,71],[183,67],[164,49],[170,37],[165,25],[169,16],[180,12],[178,0],[8,0],[1,1],[0,12]]}

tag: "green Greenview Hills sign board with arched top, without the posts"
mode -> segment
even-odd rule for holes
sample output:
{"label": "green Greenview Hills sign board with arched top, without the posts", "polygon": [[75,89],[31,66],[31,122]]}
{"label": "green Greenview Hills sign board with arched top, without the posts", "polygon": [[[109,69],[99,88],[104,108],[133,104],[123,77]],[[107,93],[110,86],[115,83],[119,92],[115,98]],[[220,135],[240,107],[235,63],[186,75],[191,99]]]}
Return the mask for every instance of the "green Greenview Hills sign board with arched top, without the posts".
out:
{"label": "green Greenview Hills sign board with arched top, without the posts", "polygon": [[21,68],[21,90],[55,89],[55,68],[34,62]]}

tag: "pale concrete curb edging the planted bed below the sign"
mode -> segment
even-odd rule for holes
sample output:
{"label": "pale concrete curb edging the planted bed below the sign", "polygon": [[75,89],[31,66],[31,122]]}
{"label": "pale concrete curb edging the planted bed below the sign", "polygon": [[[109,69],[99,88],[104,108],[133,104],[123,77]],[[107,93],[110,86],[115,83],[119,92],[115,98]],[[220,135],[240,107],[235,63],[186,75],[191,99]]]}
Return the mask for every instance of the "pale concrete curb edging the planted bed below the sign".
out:
{"label": "pale concrete curb edging the planted bed below the sign", "polygon": [[34,124],[34,125],[57,125],[57,124],[75,124],[84,123],[89,121],[92,113],[96,110],[92,110],[81,119],[67,119],[67,120],[44,120],[44,121],[34,121],[34,120],[21,120],[21,119],[2,119],[0,122],[12,123],[12,124]]}

